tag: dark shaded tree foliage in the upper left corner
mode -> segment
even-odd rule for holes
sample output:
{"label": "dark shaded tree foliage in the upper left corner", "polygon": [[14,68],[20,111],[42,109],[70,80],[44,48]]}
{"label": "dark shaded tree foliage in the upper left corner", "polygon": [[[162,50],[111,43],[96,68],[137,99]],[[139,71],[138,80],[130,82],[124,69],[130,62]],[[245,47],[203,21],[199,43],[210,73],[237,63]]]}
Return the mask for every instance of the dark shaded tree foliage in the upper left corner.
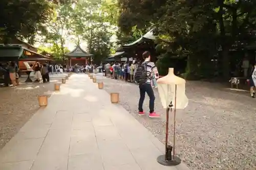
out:
{"label": "dark shaded tree foliage in the upper left corner", "polygon": [[32,37],[48,19],[52,4],[44,0],[1,0],[0,11],[0,37],[8,43],[14,37]]}

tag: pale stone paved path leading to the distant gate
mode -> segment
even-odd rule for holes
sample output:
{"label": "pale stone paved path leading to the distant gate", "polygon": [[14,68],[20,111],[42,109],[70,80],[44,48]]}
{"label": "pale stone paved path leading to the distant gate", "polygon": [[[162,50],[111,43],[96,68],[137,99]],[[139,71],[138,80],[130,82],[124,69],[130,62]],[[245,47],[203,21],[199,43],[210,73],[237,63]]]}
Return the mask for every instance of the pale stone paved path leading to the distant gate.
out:
{"label": "pale stone paved path leading to the distant gate", "polygon": [[157,163],[164,145],[82,74],[61,85],[0,152],[2,170],[186,170]]}

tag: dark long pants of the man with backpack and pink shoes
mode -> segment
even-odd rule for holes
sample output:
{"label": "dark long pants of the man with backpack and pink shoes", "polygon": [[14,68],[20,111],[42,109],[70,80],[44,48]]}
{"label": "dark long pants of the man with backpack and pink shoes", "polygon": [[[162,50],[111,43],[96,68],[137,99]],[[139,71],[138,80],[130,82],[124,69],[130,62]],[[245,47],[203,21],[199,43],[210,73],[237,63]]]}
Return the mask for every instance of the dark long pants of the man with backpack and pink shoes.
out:
{"label": "dark long pants of the man with backpack and pink shoes", "polygon": [[140,89],[140,100],[139,100],[139,111],[143,112],[143,102],[145,99],[145,93],[147,93],[148,97],[150,97],[150,113],[154,112],[154,104],[155,104],[155,95],[151,84],[144,83],[139,85]]}

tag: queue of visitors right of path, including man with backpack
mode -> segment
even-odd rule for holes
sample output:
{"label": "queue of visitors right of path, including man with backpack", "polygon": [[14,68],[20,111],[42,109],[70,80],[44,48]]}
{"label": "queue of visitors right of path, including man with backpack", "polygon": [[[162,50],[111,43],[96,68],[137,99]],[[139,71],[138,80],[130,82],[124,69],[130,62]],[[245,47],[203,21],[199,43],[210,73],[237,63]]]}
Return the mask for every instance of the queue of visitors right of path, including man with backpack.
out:
{"label": "queue of visitors right of path, including man with backpack", "polygon": [[150,117],[159,117],[154,110],[155,95],[153,87],[157,88],[156,80],[159,78],[155,63],[150,62],[150,52],[142,55],[144,62],[106,63],[104,65],[104,76],[112,79],[124,80],[125,82],[137,83],[139,85],[140,99],[138,103],[138,115],[144,115],[143,102],[145,93],[150,98]]}

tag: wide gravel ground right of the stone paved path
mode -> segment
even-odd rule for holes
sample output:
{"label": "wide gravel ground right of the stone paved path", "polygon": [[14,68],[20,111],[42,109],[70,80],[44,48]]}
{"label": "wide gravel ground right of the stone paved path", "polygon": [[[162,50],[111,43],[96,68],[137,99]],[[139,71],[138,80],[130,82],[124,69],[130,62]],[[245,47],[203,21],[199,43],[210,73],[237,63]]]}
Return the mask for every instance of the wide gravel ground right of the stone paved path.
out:
{"label": "wide gravel ground right of the stone paved path", "polygon": [[[165,110],[157,89],[155,109],[161,118],[137,115],[138,87],[121,80],[106,79],[104,90],[120,93],[120,105],[165,142]],[[177,111],[176,152],[191,169],[256,169],[256,99],[243,91],[231,91],[222,85],[187,81],[188,107]],[[148,111],[148,97],[144,110]],[[173,119],[173,114],[170,119]],[[173,124],[173,120],[171,120]],[[173,127],[170,126],[170,129]],[[172,141],[172,132],[170,132]]]}

